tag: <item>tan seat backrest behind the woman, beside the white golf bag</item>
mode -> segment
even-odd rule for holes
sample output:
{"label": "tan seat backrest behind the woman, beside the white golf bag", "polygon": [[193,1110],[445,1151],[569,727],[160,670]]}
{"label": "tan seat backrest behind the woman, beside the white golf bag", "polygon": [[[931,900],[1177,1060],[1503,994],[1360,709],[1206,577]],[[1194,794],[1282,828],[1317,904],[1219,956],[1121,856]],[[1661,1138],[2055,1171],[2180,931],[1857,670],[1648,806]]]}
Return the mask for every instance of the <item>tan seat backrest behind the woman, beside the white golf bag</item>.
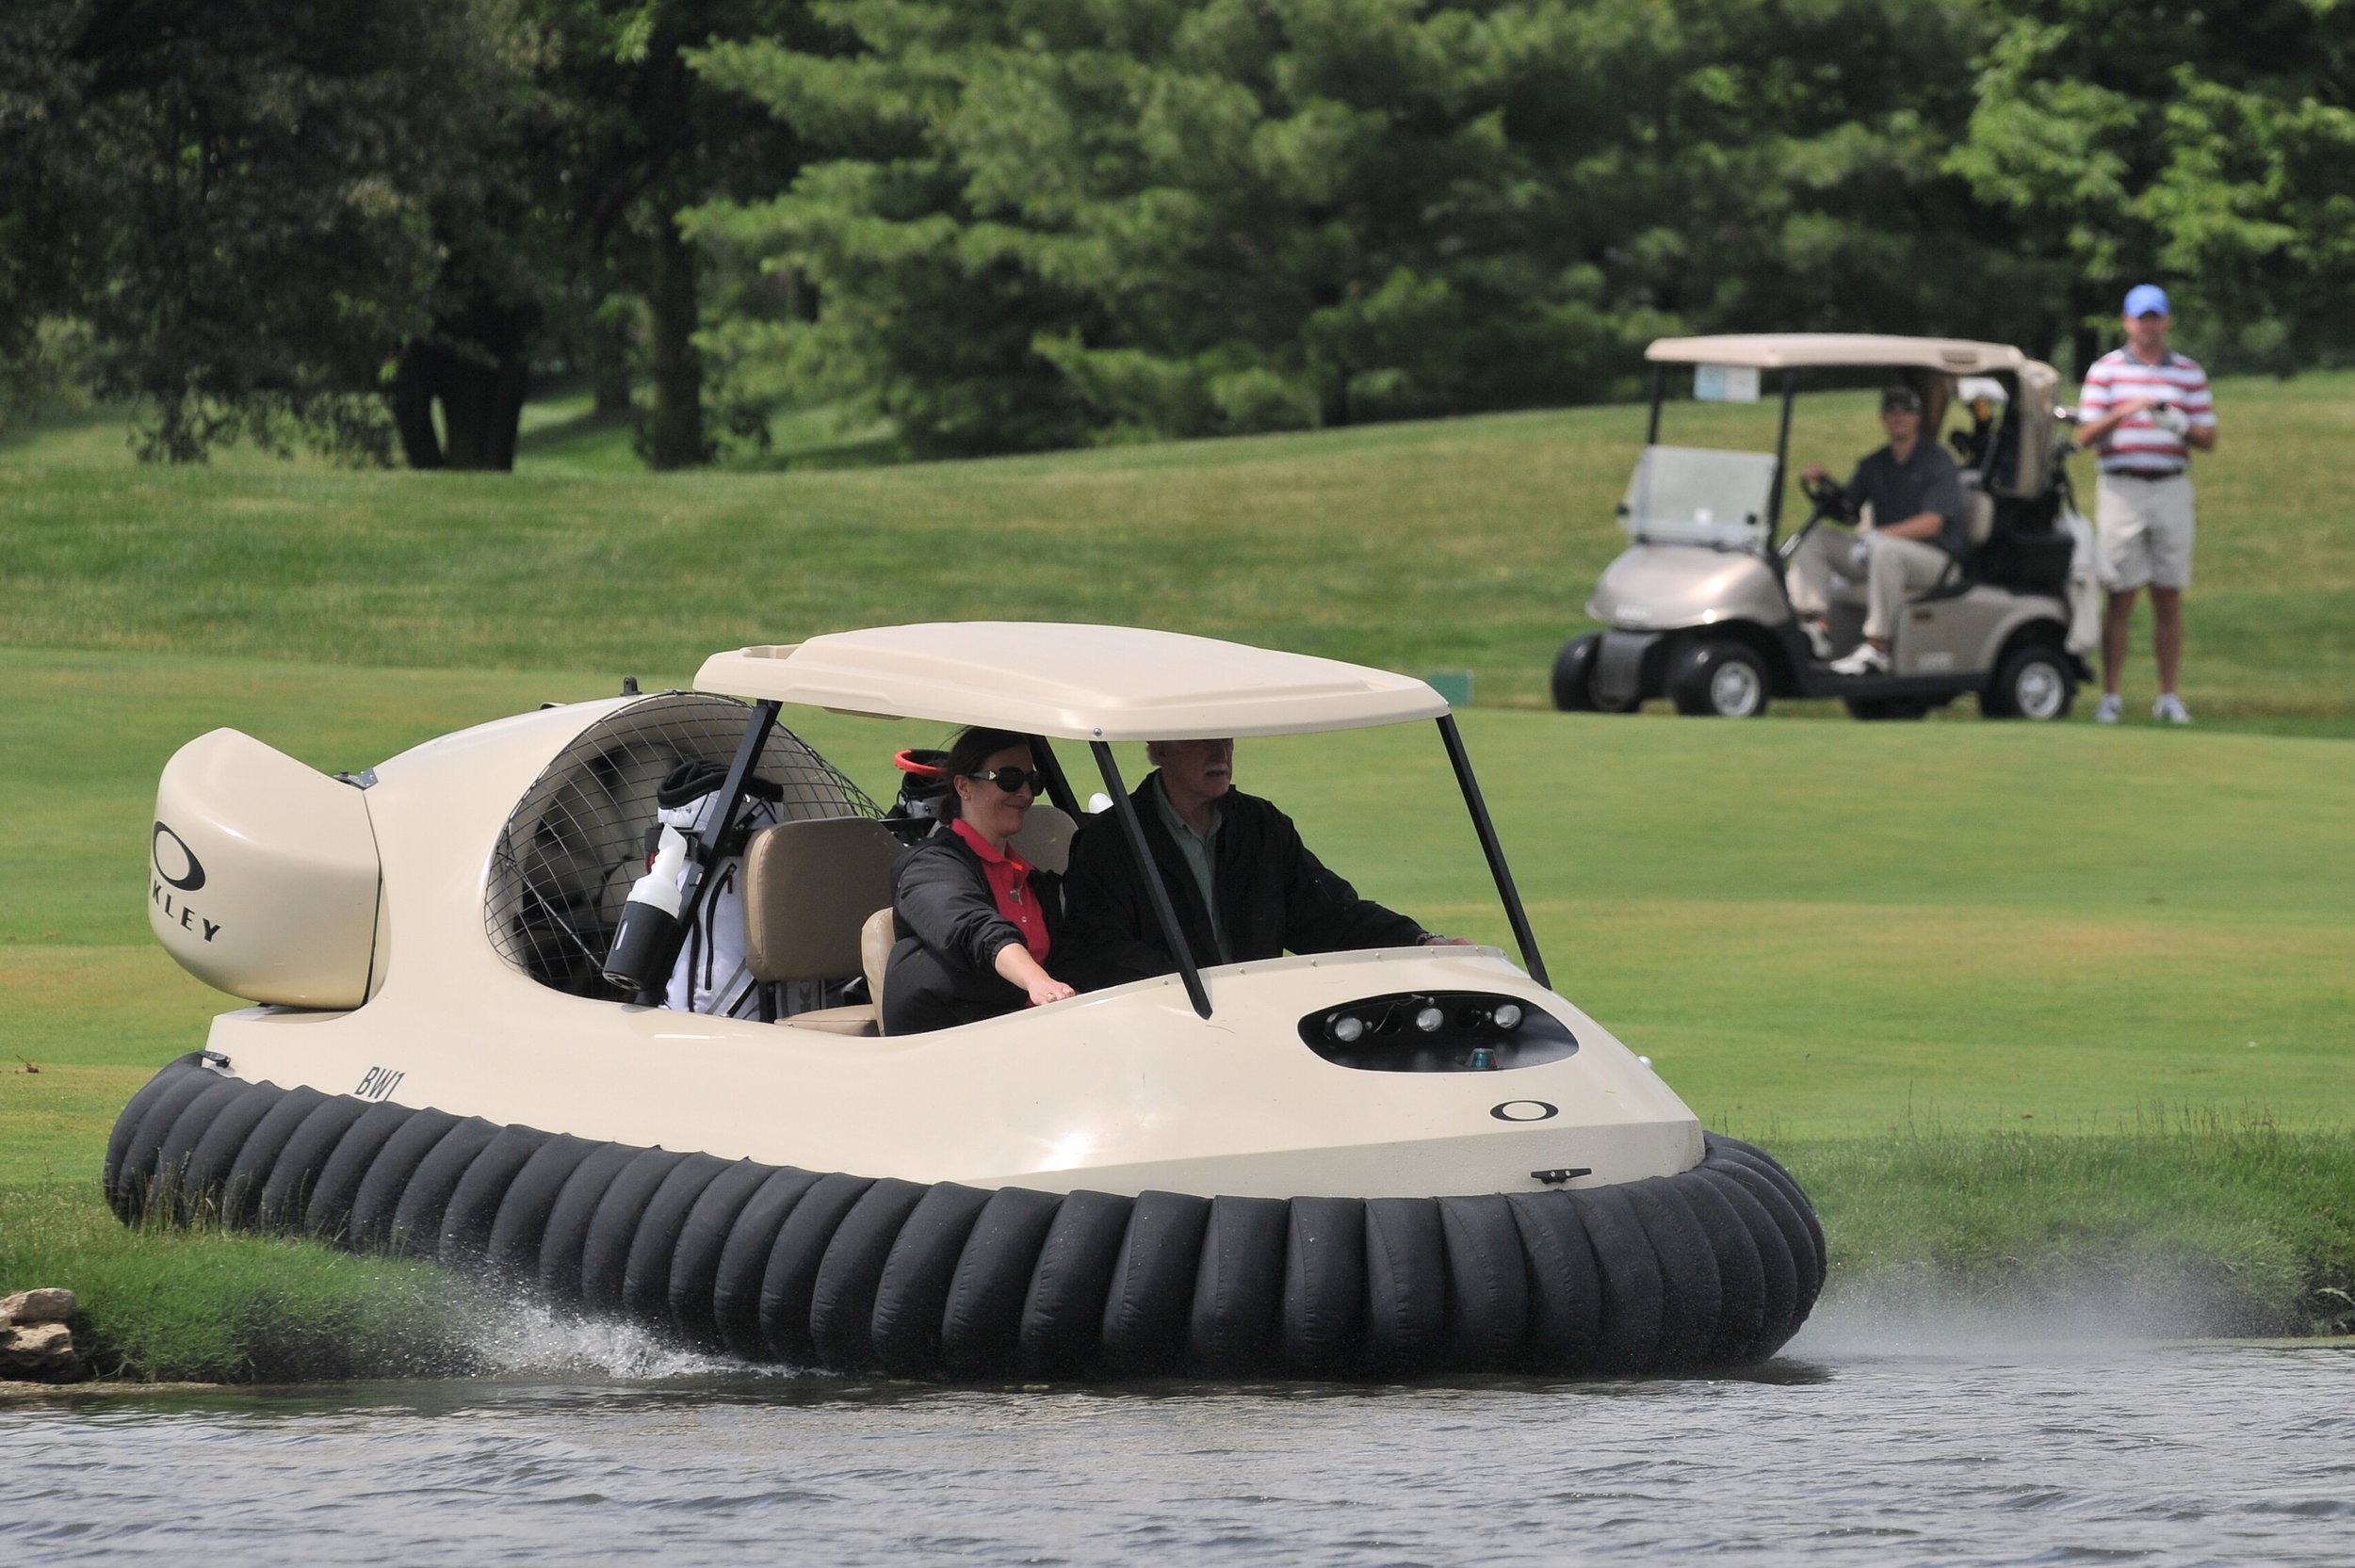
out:
{"label": "tan seat backrest behind the woman, beside the white golf bag", "polygon": [[900,841],[871,817],[810,817],[744,845],[744,968],[754,979],[857,975],[860,923],[890,904]]}

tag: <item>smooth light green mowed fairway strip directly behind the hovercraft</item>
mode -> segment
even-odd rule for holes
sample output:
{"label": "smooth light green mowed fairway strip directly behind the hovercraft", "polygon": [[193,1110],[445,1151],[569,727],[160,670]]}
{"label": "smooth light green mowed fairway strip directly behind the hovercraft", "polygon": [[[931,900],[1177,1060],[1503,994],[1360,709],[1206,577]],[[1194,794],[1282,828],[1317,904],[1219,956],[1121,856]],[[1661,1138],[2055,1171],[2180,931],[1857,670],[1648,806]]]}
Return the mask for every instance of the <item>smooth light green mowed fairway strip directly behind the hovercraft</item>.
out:
{"label": "smooth light green mowed fairway strip directly behind the hovercraft", "polygon": [[[177,744],[228,723],[360,768],[612,690],[21,650],[0,676],[0,803],[40,824],[0,848],[0,1052],[42,1069],[0,1076],[0,1182],[87,1175],[130,1088],[233,1005],[146,932],[146,824]],[[796,718],[878,796],[890,751],[940,735]],[[1514,711],[1470,713],[1467,737],[1557,989],[1710,1125],[1820,1140],[2115,1132],[2185,1111],[2355,1121],[2341,742]],[[1373,897],[1507,939],[1427,727],[1248,742],[1239,772]]]}

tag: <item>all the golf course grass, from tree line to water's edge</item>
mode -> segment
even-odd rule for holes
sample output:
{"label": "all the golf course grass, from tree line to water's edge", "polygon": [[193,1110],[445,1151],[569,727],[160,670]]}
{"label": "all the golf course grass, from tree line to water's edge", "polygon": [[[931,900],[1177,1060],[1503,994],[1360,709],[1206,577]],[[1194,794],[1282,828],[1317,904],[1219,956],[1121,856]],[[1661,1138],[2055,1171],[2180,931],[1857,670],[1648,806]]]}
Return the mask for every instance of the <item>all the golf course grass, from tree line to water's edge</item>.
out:
{"label": "all the golf course grass, from tree line to water's edge", "polygon": [[[624,671],[685,683],[714,647],[989,614],[1474,669],[1465,730],[1557,989],[1792,1161],[1849,1290],[2023,1290],[2075,1257],[2181,1278],[2218,1323],[2341,1321],[2355,377],[2218,398],[2193,732],[1517,711],[1616,549],[1634,410],[664,478],[570,405],[535,410],[516,476],[137,469],[104,419],[0,440],[0,1288],[94,1293],[108,1354],[158,1377],[332,1368],[417,1300],[405,1264],[97,1205],[115,1109],[231,1005],[141,913],[174,746],[236,725],[358,768]],[[1672,440],[1759,414],[1681,412]],[[1799,452],[1868,424],[1827,398]],[[876,793],[937,737],[796,723]],[[1425,730],[1251,742],[1241,782],[1371,895],[1505,937]]]}

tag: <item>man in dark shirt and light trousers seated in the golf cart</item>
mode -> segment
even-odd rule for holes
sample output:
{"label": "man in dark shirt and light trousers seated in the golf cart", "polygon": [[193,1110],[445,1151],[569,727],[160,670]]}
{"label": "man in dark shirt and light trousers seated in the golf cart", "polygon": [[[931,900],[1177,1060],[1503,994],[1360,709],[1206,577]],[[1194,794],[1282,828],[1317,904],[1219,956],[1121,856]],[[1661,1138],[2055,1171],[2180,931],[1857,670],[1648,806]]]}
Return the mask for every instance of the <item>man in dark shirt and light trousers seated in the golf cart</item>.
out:
{"label": "man in dark shirt and light trousers seated in the golf cart", "polygon": [[[1889,445],[1856,464],[1846,483],[1851,511],[1872,506],[1872,527],[1853,537],[1816,527],[1790,558],[1790,607],[1809,626],[1818,657],[1832,652],[1823,619],[1839,591],[1835,577],[1865,584],[1865,640],[1832,664],[1839,676],[1886,673],[1905,600],[1938,586],[1966,549],[1962,476],[1936,440],[1922,440],[1922,393],[1886,388],[1882,428]],[[1830,478],[1818,464],[1804,473],[1818,483]]]}

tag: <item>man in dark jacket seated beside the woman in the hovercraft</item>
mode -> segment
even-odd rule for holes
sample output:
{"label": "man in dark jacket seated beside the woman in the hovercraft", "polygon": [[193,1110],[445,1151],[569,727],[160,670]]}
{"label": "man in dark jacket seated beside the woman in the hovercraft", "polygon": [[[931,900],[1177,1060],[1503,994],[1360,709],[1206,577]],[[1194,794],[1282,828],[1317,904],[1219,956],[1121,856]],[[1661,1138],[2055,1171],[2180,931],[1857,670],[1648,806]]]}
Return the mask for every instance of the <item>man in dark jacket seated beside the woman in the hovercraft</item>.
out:
{"label": "man in dark jacket seated beside the woman in the hovercraft", "polygon": [[[1300,843],[1274,803],[1234,789],[1232,739],[1152,742],[1154,772],[1130,796],[1194,963],[1246,963],[1359,946],[1467,946],[1356,897]],[[1104,984],[1168,975],[1152,895],[1119,824],[1102,815],[1072,845],[1067,925],[1095,949]]]}

